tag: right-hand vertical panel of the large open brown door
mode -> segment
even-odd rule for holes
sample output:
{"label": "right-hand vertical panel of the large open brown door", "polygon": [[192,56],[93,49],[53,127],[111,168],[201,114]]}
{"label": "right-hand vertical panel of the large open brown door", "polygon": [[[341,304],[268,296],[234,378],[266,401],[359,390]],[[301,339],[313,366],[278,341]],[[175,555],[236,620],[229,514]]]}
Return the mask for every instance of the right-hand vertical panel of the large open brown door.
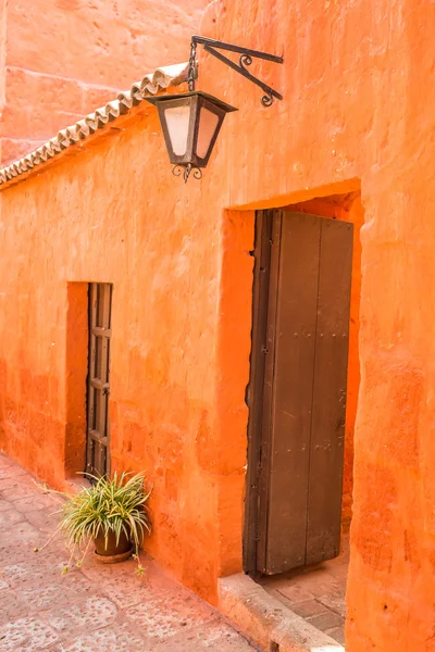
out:
{"label": "right-hand vertical panel of the large open brown door", "polygon": [[339,553],[353,225],[322,220],[307,557]]}

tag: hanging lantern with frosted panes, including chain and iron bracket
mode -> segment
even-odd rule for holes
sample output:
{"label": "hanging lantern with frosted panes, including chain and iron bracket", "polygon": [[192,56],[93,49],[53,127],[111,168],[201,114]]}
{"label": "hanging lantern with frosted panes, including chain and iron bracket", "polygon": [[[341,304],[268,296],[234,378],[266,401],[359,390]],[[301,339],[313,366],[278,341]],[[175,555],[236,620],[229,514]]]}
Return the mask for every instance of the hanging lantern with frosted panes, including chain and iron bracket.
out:
{"label": "hanging lantern with frosted panes, including chain and iron bracket", "polygon": [[[282,57],[258,52],[257,50],[247,50],[239,46],[215,41],[203,36],[192,36],[187,77],[189,92],[147,98],[158,109],[170,161],[174,164],[172,172],[175,176],[181,176],[183,173],[185,183],[192,171],[195,178],[201,178],[201,167],[206,167],[209,162],[225,115],[231,111],[237,111],[235,106],[223,102],[219,98],[201,90],[195,90],[195,80],[198,76],[196,62],[198,43],[203,45],[204,50],[213,57],[260,86],[265,93],[261,99],[264,106],[270,106],[274,98],[283,99],[283,96],[276,90],[246,70],[246,66],[252,63],[252,58],[283,63]],[[240,54],[239,63],[235,63],[217,50],[238,52]]]}

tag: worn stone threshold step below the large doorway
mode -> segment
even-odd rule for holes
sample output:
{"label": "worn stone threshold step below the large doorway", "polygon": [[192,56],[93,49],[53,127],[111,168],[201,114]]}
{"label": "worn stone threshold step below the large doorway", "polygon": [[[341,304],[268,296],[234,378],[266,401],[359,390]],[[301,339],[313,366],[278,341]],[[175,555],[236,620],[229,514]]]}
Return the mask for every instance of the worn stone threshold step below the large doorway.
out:
{"label": "worn stone threshold step below the large doorway", "polygon": [[243,573],[219,579],[219,610],[265,652],[345,652]]}

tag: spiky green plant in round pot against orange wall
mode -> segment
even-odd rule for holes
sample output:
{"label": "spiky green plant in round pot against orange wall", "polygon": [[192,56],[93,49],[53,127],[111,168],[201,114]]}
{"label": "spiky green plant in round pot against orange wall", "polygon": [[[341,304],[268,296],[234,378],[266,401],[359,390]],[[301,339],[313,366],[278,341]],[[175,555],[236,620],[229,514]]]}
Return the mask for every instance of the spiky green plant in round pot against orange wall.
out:
{"label": "spiky green plant in round pot against orange wall", "polygon": [[[114,473],[111,479],[88,476],[94,485],[74,496],[62,494],[66,501],[57,531],[64,535],[71,551],[69,566],[77,550],[82,554],[76,565],[82,565],[91,541],[95,556],[105,564],[122,562],[132,554],[139,559],[139,544],[151,530],[147,507],[151,492],[144,489],[144,474],[129,475]],[[138,572],[142,572],[140,564]]]}

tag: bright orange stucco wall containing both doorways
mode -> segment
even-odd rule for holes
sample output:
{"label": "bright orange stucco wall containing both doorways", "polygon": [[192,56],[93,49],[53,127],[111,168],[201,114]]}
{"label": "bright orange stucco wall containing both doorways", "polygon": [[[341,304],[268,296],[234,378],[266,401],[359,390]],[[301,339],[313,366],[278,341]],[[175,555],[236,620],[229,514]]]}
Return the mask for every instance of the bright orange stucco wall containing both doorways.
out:
{"label": "bright orange stucco wall containing both doorways", "polygon": [[113,283],[114,466],[148,471],[149,549],[213,601],[241,567],[253,210],[361,190],[350,652],[435,649],[434,27],[430,0],[216,0],[201,32],[283,53],[256,70],[284,101],[201,57],[239,112],[200,183],[150,108],[1,193],[1,446],[63,482],[67,288]]}

